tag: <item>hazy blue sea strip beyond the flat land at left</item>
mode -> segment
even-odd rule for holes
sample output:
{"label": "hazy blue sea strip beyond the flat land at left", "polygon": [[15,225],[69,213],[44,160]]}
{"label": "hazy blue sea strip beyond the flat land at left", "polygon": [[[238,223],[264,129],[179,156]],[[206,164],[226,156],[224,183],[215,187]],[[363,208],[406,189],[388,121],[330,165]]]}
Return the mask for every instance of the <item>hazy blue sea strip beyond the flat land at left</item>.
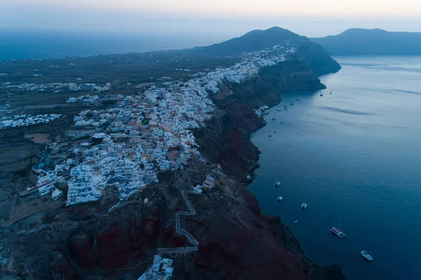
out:
{"label": "hazy blue sea strip beyond the flat land at left", "polygon": [[189,34],[12,32],[0,30],[0,60],[159,51],[210,44]]}

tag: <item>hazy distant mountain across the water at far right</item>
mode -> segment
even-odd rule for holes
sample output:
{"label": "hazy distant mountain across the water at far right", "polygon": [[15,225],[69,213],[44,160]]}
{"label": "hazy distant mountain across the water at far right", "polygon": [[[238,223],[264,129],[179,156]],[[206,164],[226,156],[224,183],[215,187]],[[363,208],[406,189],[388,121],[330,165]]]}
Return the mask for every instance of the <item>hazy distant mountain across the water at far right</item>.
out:
{"label": "hazy distant mountain across the water at far right", "polygon": [[421,32],[354,28],[311,40],[330,55],[421,55]]}

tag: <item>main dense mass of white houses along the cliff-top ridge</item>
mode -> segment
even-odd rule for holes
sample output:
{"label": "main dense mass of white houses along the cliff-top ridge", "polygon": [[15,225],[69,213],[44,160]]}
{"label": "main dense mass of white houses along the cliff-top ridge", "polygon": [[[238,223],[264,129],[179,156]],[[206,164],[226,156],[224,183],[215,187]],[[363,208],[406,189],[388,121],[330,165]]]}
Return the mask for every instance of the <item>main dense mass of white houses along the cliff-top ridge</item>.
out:
{"label": "main dense mass of white houses along the cliff-top ridge", "polygon": [[[67,205],[98,200],[109,185],[126,199],[159,182],[158,173],[187,164],[190,156],[200,154],[192,129],[205,126],[215,109],[208,95],[218,93],[224,81],[241,83],[260,68],[285,61],[288,53],[293,48],[243,53],[241,62],[232,67],[219,67],[186,82],[165,81],[138,95],[112,95],[113,108],[80,112],[74,117],[75,126],[102,133],[74,149],[82,159],[78,165],[60,166],[70,170]],[[208,175],[194,192],[213,187],[214,180]]]}

